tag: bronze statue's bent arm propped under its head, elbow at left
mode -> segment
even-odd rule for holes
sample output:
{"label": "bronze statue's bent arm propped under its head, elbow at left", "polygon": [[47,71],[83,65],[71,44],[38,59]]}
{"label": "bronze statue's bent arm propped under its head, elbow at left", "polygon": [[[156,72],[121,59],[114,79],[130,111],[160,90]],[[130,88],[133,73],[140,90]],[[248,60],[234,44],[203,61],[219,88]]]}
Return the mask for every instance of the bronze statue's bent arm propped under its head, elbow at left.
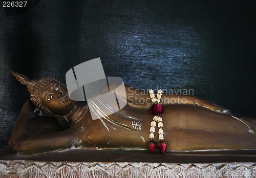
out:
{"label": "bronze statue's bent arm propped under its head, elbow at left", "polygon": [[77,143],[77,134],[73,129],[32,136],[29,132],[29,122],[35,117],[37,117],[37,114],[33,112],[33,105],[30,101],[27,101],[22,107],[11,134],[9,144],[12,152],[44,152],[67,148]]}

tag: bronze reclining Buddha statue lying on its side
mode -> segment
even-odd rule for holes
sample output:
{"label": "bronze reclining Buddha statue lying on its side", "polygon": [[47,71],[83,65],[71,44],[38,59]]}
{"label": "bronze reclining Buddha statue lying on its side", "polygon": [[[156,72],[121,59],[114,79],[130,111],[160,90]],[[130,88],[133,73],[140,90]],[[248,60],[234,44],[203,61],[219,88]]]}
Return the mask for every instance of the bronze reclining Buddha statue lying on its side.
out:
{"label": "bronze reclining Buddha statue lying on its side", "polygon": [[[71,100],[67,87],[58,80],[51,77],[30,80],[11,73],[30,93],[30,100],[23,105],[11,134],[12,152],[146,149],[154,117],[148,112],[152,103],[136,103],[134,99],[146,100],[149,95],[125,85],[127,104],[114,114],[93,120],[88,103]],[[180,104],[181,99],[185,103]],[[174,100],[176,103],[170,102]],[[166,152],[256,149],[253,118],[233,115],[228,109],[188,95],[163,94],[161,104],[163,135],[169,145]],[[44,115],[38,116],[35,107]],[[67,121],[70,128],[62,130],[57,120]]]}

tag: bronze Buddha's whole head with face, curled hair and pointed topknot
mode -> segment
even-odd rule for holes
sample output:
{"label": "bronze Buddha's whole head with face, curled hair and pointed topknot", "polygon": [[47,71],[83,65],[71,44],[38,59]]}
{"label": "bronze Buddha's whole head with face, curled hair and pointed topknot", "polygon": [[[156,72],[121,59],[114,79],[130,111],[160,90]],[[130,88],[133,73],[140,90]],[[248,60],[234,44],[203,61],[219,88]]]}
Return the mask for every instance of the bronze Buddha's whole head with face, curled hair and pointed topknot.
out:
{"label": "bronze Buddha's whole head with face, curled hair and pointed topknot", "polygon": [[27,86],[31,102],[45,115],[65,116],[71,112],[75,101],[68,95],[67,87],[52,77],[30,80],[28,77],[11,71],[16,79]]}

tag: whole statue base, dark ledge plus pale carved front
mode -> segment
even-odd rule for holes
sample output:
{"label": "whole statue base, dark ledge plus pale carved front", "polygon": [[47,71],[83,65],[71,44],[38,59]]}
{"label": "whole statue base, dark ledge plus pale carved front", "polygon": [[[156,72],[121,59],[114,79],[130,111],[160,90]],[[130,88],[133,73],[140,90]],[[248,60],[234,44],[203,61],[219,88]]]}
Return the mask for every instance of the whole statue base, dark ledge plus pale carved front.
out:
{"label": "whole statue base, dark ledge plus pale carved front", "polygon": [[249,154],[78,149],[0,159],[0,177],[256,177]]}

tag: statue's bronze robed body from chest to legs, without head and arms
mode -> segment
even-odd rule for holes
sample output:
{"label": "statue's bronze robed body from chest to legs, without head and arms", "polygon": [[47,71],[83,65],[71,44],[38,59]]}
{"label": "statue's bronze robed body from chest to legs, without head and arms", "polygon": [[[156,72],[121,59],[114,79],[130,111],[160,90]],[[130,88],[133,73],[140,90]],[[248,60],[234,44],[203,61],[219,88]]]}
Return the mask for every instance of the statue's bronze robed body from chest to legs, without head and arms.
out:
{"label": "statue's bronze robed body from chest to legs, without head and arms", "polygon": [[[163,105],[164,141],[170,150],[252,149],[256,147],[254,123],[247,118],[221,114],[190,104]],[[144,148],[153,115],[147,108],[125,106],[105,118],[92,120],[90,111],[73,126],[79,143],[98,148]],[[158,140],[156,126],[154,141]],[[246,138],[246,139],[245,139]]]}

